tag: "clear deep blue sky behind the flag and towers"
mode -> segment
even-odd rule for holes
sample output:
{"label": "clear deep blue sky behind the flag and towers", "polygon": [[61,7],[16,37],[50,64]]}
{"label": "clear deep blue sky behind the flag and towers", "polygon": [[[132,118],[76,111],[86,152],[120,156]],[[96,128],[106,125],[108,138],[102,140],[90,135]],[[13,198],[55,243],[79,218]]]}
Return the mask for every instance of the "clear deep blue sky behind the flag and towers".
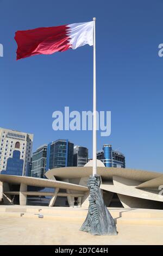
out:
{"label": "clear deep blue sky behind the flag and towers", "polygon": [[97,108],[111,111],[112,144],[129,168],[162,172],[163,43],[161,0],[0,0],[0,126],[34,133],[34,150],[68,138],[89,148],[91,131],[53,131],[53,111],[92,110],[93,48],[16,61],[17,30],[96,22]]}

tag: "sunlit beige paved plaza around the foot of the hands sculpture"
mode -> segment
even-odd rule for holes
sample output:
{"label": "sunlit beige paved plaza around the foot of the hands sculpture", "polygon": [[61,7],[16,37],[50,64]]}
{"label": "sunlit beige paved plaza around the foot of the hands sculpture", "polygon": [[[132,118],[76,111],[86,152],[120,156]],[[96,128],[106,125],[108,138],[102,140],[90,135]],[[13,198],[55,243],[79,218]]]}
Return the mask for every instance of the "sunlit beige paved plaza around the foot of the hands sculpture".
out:
{"label": "sunlit beige paved plaza around the foot of the hands sculpture", "polygon": [[0,245],[162,245],[163,211],[110,209],[117,236],[79,231],[86,209],[0,206]]}

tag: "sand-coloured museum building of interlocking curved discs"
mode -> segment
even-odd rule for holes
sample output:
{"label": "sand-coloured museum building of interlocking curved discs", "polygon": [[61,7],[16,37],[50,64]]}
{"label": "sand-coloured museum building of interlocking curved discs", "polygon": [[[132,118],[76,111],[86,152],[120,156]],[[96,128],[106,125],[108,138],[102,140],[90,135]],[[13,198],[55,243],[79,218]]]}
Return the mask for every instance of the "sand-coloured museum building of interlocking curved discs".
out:
{"label": "sand-coloured museum building of interlocking curved discs", "polygon": [[[46,172],[46,179],[0,174],[0,203],[87,208],[91,164],[54,168]],[[107,207],[163,209],[161,173],[105,167],[99,160],[97,166]]]}

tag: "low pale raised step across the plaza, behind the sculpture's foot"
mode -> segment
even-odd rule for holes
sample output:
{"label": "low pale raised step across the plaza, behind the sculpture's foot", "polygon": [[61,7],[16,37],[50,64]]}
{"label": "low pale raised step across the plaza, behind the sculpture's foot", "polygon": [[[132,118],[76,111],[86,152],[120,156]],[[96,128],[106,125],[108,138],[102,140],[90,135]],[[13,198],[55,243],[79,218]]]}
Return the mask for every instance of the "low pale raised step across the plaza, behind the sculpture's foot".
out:
{"label": "low pale raised step across the plaza, behind the sculpture's foot", "polygon": [[[109,209],[117,224],[163,225],[163,211],[149,209]],[[46,206],[0,206],[0,217],[39,218],[84,222],[87,209]]]}

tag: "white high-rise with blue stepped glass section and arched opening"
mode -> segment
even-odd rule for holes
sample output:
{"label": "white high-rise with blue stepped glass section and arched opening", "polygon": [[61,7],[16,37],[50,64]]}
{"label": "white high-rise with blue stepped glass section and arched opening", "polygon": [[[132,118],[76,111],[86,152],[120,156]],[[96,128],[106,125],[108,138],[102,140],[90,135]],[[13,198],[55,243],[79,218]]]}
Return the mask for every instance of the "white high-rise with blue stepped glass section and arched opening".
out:
{"label": "white high-rise with blue stepped glass section and arched opening", "polygon": [[29,174],[33,134],[0,128],[0,173]]}

